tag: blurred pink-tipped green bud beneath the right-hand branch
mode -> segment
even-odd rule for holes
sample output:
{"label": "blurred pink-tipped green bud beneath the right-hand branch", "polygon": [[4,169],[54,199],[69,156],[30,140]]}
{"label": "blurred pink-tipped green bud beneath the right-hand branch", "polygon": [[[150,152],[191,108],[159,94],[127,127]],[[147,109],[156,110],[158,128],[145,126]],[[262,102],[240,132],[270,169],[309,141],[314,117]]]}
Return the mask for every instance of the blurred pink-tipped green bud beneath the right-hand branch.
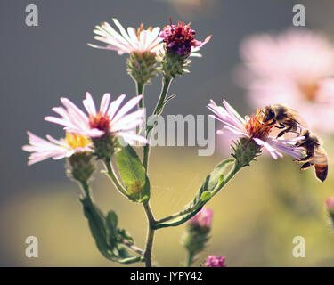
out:
{"label": "blurred pink-tipped green bud beneath the right-hand branch", "polygon": [[187,232],[183,237],[183,246],[190,256],[196,256],[206,248],[211,230],[213,211],[202,208],[199,213],[189,220]]}

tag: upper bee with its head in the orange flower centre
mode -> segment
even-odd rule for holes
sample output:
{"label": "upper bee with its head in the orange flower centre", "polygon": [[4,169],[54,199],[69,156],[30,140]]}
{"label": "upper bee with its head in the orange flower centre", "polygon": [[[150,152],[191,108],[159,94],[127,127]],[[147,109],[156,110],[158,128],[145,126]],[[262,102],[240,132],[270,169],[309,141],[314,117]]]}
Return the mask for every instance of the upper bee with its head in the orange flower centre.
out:
{"label": "upper bee with its head in the orange flower centre", "polygon": [[281,132],[277,137],[289,132],[296,133],[297,129],[299,129],[300,132],[302,130],[301,126],[307,127],[305,120],[300,117],[296,110],[281,104],[266,106],[264,113],[265,124],[268,124],[269,126],[276,124],[275,127],[281,129]]}

